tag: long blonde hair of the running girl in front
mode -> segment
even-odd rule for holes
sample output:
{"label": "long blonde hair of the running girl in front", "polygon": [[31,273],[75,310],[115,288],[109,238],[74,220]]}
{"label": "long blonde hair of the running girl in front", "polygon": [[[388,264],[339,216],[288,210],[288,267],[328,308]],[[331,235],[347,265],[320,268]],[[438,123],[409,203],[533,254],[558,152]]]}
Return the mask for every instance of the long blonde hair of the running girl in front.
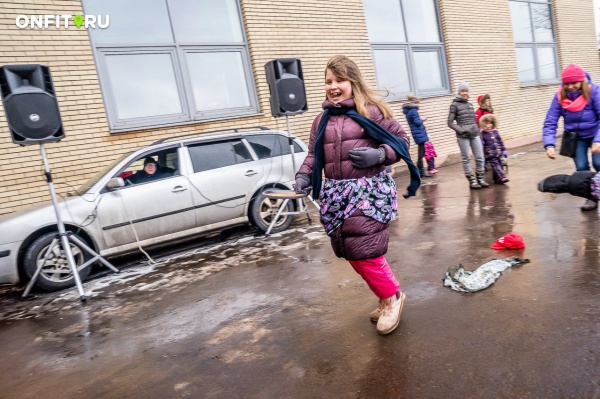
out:
{"label": "long blonde hair of the running girl in front", "polygon": [[352,96],[354,97],[354,103],[356,104],[356,111],[369,118],[368,105],[375,105],[384,118],[391,118],[394,116],[392,108],[387,105],[381,99],[381,96],[377,92],[367,86],[358,65],[350,58],[345,55],[334,55],[327,61],[327,67],[325,68],[325,76],[327,76],[327,70],[331,72],[339,79],[347,80],[350,82],[352,87]]}

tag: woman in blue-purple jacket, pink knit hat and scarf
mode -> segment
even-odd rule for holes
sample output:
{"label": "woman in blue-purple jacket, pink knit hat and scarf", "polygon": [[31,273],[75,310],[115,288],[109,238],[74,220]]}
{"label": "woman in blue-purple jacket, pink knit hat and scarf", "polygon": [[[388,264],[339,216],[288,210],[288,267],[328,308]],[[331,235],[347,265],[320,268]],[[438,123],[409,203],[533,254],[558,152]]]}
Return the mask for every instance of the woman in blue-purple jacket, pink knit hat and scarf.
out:
{"label": "woman in blue-purple jacket, pink knit hat and scarf", "polygon": [[[587,79],[586,79],[587,78]],[[569,64],[562,72],[562,85],[552,99],[544,121],[543,142],[550,159],[556,158],[556,127],[563,117],[565,130],[577,132],[577,150],[573,160],[577,171],[589,171],[592,165],[600,172],[600,87],[577,64]],[[582,211],[598,207],[597,199],[587,199]]]}

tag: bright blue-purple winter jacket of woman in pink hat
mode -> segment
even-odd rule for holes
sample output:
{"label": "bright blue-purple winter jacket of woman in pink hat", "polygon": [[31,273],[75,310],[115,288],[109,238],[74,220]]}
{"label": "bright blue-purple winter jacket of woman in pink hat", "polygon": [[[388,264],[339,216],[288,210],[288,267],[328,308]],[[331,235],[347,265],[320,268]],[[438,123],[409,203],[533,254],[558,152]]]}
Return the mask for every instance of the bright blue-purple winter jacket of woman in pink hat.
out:
{"label": "bright blue-purple winter jacket of woman in pink hat", "polygon": [[[589,75],[587,75],[589,78]],[[590,102],[585,108],[578,112],[565,110],[558,102],[558,96],[554,94],[550,109],[546,113],[544,121],[543,142],[544,147],[556,144],[556,126],[558,119],[562,116],[565,130],[573,130],[579,134],[579,138],[590,139],[594,142],[600,142],[600,86],[595,83],[591,85]],[[581,95],[581,92],[568,93],[570,100],[575,100]]]}

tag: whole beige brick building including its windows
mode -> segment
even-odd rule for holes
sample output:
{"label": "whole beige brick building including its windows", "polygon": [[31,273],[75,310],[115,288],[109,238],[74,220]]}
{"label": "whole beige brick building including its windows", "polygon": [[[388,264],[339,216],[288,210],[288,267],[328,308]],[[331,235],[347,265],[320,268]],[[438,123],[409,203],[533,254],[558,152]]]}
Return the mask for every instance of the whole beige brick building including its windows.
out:
{"label": "whole beige brick building including its windows", "polygon": [[[117,156],[159,138],[257,125],[285,130],[285,118],[273,118],[270,114],[264,73],[265,63],[275,58],[302,60],[308,112],[290,117],[294,134],[307,139],[310,124],[324,99],[325,63],[332,55],[345,54],[359,64],[370,83],[394,93],[391,104],[407,130],[402,99],[408,91],[424,98],[421,114],[429,117],[430,138],[440,156],[438,164],[459,152],[455,135],[447,127],[447,113],[460,81],[470,83],[475,107],[478,94],[491,95],[503,138],[509,147],[514,147],[541,141],[545,111],[565,65],[579,63],[592,78],[600,79],[592,0],[398,0],[397,4],[385,2],[385,7],[394,3],[390,9],[382,9],[384,2],[378,0],[349,0],[343,7],[322,0],[223,2],[229,7],[229,17],[239,15],[238,21],[241,19],[240,33],[236,34],[240,42],[231,48],[243,60],[240,65],[247,66],[245,74],[236,75],[243,75],[247,83],[247,106],[237,114],[235,107],[224,114],[182,112],[186,115],[178,121],[144,115],[133,118],[135,123],[128,125],[127,118],[121,117],[127,109],[118,101],[118,80],[111,77],[111,86],[107,78],[122,74],[114,66],[117,64],[111,64],[117,59],[111,56],[119,51],[142,54],[152,49],[156,54],[171,54],[178,59],[180,69],[174,76],[184,92],[181,98],[195,98],[196,106],[200,103],[198,96],[191,94],[190,81],[185,76],[191,69],[191,54],[198,59],[210,57],[210,45],[190,44],[182,39],[165,47],[159,39],[136,44],[126,37],[136,26],[138,32],[132,35],[139,34],[140,40],[157,36],[161,26],[144,25],[144,21],[162,21],[165,14],[159,7],[170,7],[171,14],[167,14],[174,18],[177,2],[129,0],[132,7],[138,7],[133,8],[138,10],[135,14],[131,13],[136,15],[134,18],[119,15],[118,10],[128,0],[84,0],[83,4],[79,0],[0,0],[0,65],[36,63],[49,66],[52,72],[66,137],[45,147],[59,194],[69,191],[69,185],[78,186]],[[212,7],[218,2],[199,3],[210,3]],[[104,10],[99,10],[98,4],[114,7],[106,6],[106,12],[101,12]],[[195,10],[185,11],[182,18],[193,18]],[[110,39],[118,45],[104,45],[108,39],[100,37],[100,33],[94,36],[93,29],[99,28],[77,28],[72,24],[56,27],[53,22],[48,28],[17,26],[29,23],[32,16],[84,13],[109,15],[108,30],[125,26],[123,20],[127,19],[127,26],[133,30],[123,28],[125,33],[118,32]],[[199,15],[204,14],[203,11]],[[231,18],[227,21],[235,28]],[[172,23],[170,28],[183,36],[186,29],[194,33],[192,25]],[[185,58],[188,55],[189,59]],[[402,57],[406,58],[405,63],[397,68],[390,63]],[[437,64],[429,62],[433,59]],[[186,65],[184,60],[189,63]],[[433,71],[431,81],[423,76],[429,71],[427,68]],[[396,81],[398,84],[393,87],[384,84]],[[146,84],[152,87],[156,83],[148,80]],[[161,89],[156,86],[153,92],[160,98]],[[0,110],[0,214],[47,200],[42,172],[38,146],[15,145],[4,110]]]}

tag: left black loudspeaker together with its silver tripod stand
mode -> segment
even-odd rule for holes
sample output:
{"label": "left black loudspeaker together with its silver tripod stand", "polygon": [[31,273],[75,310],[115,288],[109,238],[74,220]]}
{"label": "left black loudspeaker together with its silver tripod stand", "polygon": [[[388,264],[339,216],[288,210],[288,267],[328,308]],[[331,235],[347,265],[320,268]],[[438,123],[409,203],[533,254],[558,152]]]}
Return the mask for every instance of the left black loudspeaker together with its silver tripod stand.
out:
{"label": "left black loudspeaker together with its silver tripod stand", "polygon": [[[44,148],[44,143],[60,141],[65,137],[58,110],[58,102],[54,94],[54,85],[50,76],[50,68],[37,64],[5,65],[0,67],[0,93],[13,142],[22,146],[31,144],[40,145],[42,162],[44,163],[44,175],[50,189],[50,197],[52,198],[52,205],[54,205],[56,227],[58,229],[58,233],[46,251],[44,259],[38,261],[37,269],[25,288],[22,297],[25,298],[29,295],[46,262],[56,257],[53,248],[55,245],[58,245],[62,247],[62,253],[59,256],[66,257],[71,273],[73,274],[73,279],[75,280],[75,285],[79,291],[79,298],[83,302],[87,297],[83,291],[78,268],[89,267],[96,260],[100,260],[102,264],[112,271],[118,273],[119,270],[76,236],[68,233],[61,219],[48,157]],[[77,266],[73,258],[69,240],[90,253],[92,258],[84,264]]]}

